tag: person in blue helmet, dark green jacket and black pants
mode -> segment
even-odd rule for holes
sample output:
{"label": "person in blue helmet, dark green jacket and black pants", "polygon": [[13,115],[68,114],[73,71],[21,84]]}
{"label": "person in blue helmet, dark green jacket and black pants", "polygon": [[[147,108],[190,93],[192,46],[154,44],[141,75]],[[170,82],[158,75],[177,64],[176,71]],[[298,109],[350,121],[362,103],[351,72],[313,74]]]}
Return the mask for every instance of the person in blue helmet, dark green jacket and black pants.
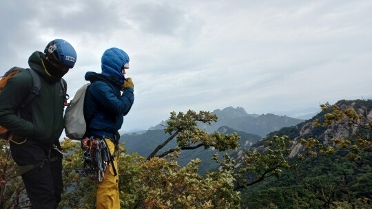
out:
{"label": "person in blue helmet, dark green jacket and black pants", "polygon": [[28,65],[39,75],[40,94],[19,108],[30,94],[33,78],[23,70],[12,76],[0,94],[0,125],[10,133],[12,158],[23,170],[32,208],[57,208],[63,190],[59,137],[63,131],[66,82],[76,52],[67,41],[55,39],[44,52],[31,54]]}

